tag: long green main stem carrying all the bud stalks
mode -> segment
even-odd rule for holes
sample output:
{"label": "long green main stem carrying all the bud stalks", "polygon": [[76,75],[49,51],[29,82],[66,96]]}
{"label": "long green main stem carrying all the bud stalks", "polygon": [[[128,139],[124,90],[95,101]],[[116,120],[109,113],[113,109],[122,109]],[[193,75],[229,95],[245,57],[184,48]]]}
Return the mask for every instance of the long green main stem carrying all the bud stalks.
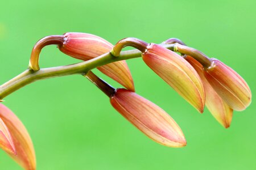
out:
{"label": "long green main stem carrying all the bud stalks", "polygon": [[[174,49],[174,44],[164,46],[171,50]],[[100,67],[102,65],[106,65],[115,61],[121,61],[124,59],[131,59],[137,57],[141,57],[141,52],[139,50],[128,50],[125,52],[121,52],[119,57],[114,57],[110,53],[105,53],[97,58],[93,58],[88,61],[76,63],[73,65],[51,67],[47,69],[40,69],[38,71],[28,69],[0,86],[0,100],[10,95],[14,91],[18,90],[19,88],[35,82],[36,80],[72,74],[85,75],[86,73],[88,73],[89,70],[92,70],[96,67]]]}

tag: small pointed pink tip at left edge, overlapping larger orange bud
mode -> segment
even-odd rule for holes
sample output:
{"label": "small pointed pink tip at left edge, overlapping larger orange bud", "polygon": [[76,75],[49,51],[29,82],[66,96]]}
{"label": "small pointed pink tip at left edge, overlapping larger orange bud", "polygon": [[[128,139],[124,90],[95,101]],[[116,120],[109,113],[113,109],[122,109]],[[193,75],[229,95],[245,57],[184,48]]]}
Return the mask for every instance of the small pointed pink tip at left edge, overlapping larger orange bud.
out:
{"label": "small pointed pink tip at left edge, overlapping larger orange bud", "polygon": [[16,154],[13,138],[5,122],[0,118],[0,148],[9,154]]}

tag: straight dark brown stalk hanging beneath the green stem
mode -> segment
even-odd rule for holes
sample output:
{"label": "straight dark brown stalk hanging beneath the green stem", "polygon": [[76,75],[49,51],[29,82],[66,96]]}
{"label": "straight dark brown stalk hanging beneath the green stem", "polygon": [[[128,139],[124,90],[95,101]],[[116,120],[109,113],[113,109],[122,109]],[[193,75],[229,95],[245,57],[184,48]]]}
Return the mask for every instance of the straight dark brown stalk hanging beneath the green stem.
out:
{"label": "straight dark brown stalk hanging beneath the green stem", "polygon": [[88,78],[93,84],[95,84],[104,94],[106,94],[109,97],[112,97],[115,93],[115,88],[110,86],[107,82],[99,78],[97,75],[92,73],[92,71],[88,71],[87,74],[84,75],[86,78]]}

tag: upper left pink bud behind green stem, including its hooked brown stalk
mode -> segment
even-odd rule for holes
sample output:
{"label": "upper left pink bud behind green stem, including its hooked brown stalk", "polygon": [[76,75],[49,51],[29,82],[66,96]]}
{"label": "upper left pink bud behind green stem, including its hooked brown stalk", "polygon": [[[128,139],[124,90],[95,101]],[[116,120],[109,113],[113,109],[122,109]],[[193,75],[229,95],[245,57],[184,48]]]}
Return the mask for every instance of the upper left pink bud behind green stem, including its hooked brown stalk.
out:
{"label": "upper left pink bud behind green stem, including its hooked brown stalk", "polygon": [[[39,70],[38,58],[40,51],[44,46],[50,44],[56,44],[61,52],[84,61],[108,53],[113,48],[110,42],[89,33],[68,32],[62,36],[44,37],[36,43],[32,50],[30,67],[33,70]],[[126,61],[109,63],[97,69],[127,89],[134,91],[133,78]]]}

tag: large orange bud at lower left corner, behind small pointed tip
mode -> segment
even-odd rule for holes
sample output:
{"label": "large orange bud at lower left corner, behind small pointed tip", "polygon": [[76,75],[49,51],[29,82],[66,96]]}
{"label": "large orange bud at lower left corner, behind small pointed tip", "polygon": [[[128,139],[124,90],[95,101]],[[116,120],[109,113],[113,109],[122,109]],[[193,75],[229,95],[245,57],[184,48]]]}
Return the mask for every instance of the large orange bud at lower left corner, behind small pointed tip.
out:
{"label": "large orange bud at lower left corner, behind small pointed tip", "polygon": [[35,151],[26,128],[16,115],[0,103],[0,118],[5,122],[13,138],[16,154],[7,152],[26,170],[36,169]]}

